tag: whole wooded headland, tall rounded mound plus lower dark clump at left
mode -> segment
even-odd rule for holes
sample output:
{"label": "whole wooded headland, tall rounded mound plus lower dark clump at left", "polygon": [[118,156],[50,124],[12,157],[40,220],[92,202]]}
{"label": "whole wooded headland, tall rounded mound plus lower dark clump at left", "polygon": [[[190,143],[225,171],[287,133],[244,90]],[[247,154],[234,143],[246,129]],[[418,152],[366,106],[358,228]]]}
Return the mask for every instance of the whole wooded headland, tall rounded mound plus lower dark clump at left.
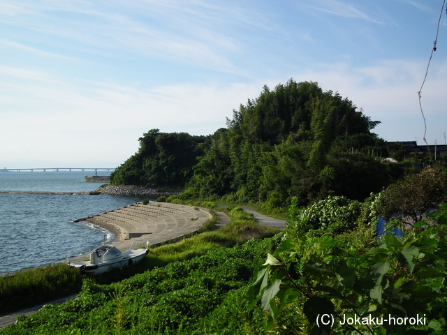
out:
{"label": "whole wooded headland, tall rounded mound plus lower dark clump at left", "polygon": [[264,87],[210,137],[181,133],[182,140],[170,142],[166,151],[157,138],[180,134],[150,131],[112,182],[154,186],[188,180],[191,196],[225,195],[272,207],[284,206],[291,196],[302,204],[329,194],[361,200],[400,174],[397,165],[377,159],[388,154],[386,142],[372,133],[379,123],[315,82],[289,80],[273,90]]}

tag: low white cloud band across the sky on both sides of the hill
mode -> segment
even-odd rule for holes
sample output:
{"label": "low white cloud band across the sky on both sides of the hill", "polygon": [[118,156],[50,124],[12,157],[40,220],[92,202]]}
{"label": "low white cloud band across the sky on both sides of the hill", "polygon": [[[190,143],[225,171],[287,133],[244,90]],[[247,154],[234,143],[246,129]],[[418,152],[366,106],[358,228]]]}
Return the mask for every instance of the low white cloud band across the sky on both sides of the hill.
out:
{"label": "low white cloud band across the sky on both sides of the hill", "polygon": [[[374,120],[388,119],[377,128],[379,135],[381,130],[391,128],[397,138],[390,140],[412,140],[415,134],[422,138],[423,133],[416,95],[423,65],[411,61],[383,61],[360,68],[348,63],[321,64],[319,70],[295,73],[293,77],[297,81],[317,81],[323,90],[339,91]],[[442,105],[443,89],[447,87],[447,62],[435,65],[437,71],[429,77],[423,94],[429,124],[439,119],[437,106]],[[116,165],[136,151],[136,139],[151,128],[197,135],[213,133],[225,126],[226,117],[231,117],[240,103],[256,98],[263,84],[274,87],[286,81],[278,77],[251,84],[190,83],[137,89],[119,83],[63,82],[45,73],[17,68],[0,67],[0,75],[6,82],[14,82],[12,87],[0,84],[0,103],[8,107],[3,108],[0,140],[17,136],[25,139],[0,149],[0,156],[19,158],[29,152],[38,159],[50,150],[69,161],[68,153],[83,147],[83,158],[110,161],[112,156]],[[390,77],[396,80],[387,80]],[[27,84],[17,86],[20,81]],[[7,104],[6,97],[10,99]],[[101,152],[93,145],[98,134],[103,137]]]}

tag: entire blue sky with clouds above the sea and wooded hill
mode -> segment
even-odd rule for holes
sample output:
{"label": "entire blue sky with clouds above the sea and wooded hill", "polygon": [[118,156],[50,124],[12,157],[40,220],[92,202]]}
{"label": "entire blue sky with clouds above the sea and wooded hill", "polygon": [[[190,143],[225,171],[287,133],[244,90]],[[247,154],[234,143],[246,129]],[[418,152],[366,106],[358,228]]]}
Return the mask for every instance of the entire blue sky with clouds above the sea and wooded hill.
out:
{"label": "entire blue sky with clouds above the sea and wooded hill", "polygon": [[[208,135],[293,78],[417,140],[442,0],[0,0],[0,168],[116,167],[152,128]],[[447,15],[421,91],[444,144]]]}

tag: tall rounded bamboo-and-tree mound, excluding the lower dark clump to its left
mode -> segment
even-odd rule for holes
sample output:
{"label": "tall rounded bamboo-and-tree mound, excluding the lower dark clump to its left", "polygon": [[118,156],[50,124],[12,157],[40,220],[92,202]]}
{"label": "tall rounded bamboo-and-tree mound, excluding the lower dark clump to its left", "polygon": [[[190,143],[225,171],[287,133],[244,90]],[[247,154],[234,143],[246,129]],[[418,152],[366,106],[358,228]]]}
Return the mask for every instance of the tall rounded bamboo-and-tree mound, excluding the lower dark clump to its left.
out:
{"label": "tall rounded bamboo-and-tree mound, excluding the lower dark clump to its left", "polygon": [[[271,207],[295,195],[301,204],[332,193],[367,198],[390,181],[386,167],[372,157],[386,151],[385,142],[371,133],[377,124],[315,82],[289,80],[274,90],[265,86],[258,98],[233,111],[228,130],[200,158],[189,186],[200,195],[232,194]],[[346,171],[339,160],[367,163],[358,163],[355,179],[341,184]],[[379,181],[362,183],[372,167],[381,174]]]}

